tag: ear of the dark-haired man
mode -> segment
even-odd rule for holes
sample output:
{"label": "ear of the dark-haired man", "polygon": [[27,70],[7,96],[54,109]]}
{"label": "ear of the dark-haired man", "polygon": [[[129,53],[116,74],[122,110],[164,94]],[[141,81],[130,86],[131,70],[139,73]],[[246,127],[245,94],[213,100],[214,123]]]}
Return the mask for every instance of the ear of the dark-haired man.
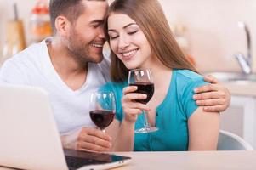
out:
{"label": "ear of the dark-haired man", "polygon": [[60,36],[67,36],[71,27],[71,22],[65,16],[58,16],[55,20],[55,28]]}

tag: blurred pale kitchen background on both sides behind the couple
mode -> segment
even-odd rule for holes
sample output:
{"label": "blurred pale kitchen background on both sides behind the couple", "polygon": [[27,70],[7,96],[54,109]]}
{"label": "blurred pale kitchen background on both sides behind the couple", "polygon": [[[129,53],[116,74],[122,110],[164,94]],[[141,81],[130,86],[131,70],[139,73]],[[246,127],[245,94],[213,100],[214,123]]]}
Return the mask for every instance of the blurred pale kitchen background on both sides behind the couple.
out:
{"label": "blurred pale kitchen background on both sides behind the couple", "polygon": [[[22,21],[25,36],[19,36],[21,33],[16,36],[26,46],[49,33],[47,25],[43,28],[33,25],[37,23],[35,20],[48,20],[44,3],[48,0],[0,0],[0,62],[8,40],[15,41],[12,37],[22,27],[18,24],[14,29],[11,20]],[[230,89],[231,105],[221,114],[221,128],[236,133],[256,148],[256,76],[252,74],[256,71],[256,1],[160,0],[160,3],[179,45],[198,71],[212,73]],[[43,16],[37,18],[38,14]]]}

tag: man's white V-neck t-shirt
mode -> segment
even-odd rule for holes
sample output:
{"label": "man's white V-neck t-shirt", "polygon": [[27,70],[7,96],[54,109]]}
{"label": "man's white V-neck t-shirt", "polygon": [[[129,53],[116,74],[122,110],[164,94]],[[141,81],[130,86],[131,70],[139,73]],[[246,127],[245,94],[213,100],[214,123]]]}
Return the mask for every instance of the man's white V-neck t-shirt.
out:
{"label": "man's white V-neck t-shirt", "polygon": [[[89,117],[90,94],[109,81],[109,57],[100,64],[89,63],[82,88],[73,91],[62,81],[50,60],[47,40],[31,45],[8,59],[1,68],[0,82],[44,88],[48,91],[59,132],[94,127]],[[37,114],[37,113],[35,113]]]}

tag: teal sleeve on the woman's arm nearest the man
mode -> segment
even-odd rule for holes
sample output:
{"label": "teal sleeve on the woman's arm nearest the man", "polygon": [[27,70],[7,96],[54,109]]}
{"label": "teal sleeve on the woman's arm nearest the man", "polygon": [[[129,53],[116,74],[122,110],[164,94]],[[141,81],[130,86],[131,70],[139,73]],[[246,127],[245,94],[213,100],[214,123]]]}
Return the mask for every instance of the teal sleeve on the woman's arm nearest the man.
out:
{"label": "teal sleeve on the woman's arm nearest the man", "polygon": [[104,86],[100,87],[100,91],[111,91],[115,94],[116,100],[116,119],[122,122],[122,86],[113,82],[108,82]]}

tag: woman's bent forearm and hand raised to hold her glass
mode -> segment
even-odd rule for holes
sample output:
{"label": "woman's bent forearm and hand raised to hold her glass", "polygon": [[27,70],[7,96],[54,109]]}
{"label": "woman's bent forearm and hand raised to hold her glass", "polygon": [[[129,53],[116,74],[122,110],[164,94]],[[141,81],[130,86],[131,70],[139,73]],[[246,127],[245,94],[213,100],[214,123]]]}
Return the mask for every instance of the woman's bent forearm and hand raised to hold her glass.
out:
{"label": "woman's bent forearm and hand raised to hold her glass", "polygon": [[138,99],[146,99],[145,94],[135,94],[135,86],[123,88],[122,111],[124,117],[122,122],[114,120],[106,132],[111,135],[113,146],[112,151],[133,151],[134,150],[134,127],[138,115],[142,110],[149,111],[147,105],[136,102]]}

